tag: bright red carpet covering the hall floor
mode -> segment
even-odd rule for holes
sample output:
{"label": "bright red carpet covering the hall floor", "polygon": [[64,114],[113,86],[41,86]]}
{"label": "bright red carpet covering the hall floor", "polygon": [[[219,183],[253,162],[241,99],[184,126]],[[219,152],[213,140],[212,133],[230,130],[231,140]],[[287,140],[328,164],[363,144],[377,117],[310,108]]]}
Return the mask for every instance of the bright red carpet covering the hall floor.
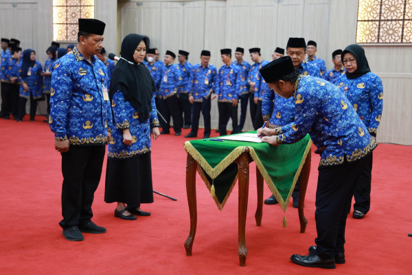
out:
{"label": "bright red carpet covering the hall floor", "polygon": [[[189,234],[183,136],[161,135],[153,142],[155,195],[143,205],[152,217],[123,221],[113,217],[115,203],[104,203],[104,176],[95,193],[93,221],[106,234],[84,234],[66,241],[61,219],[60,154],[49,126],[0,119],[0,265],[1,274],[412,274],[412,147],[380,144],[374,151],[371,211],[363,220],[347,219],[346,261],[336,270],[295,265],[290,255],[306,254],[314,244],[314,192],[319,157],[312,154],[306,195],[306,233],[299,233],[297,209],[288,208],[282,228],[279,206],[264,205],[262,226],[255,225],[255,168],[251,165],[246,267],[238,261],[238,188],[220,212],[200,177],[198,225],[193,256],[183,242]],[[203,129],[199,137],[203,136]],[[183,135],[188,131],[183,131]],[[103,175],[105,173],[105,166]],[[266,186],[266,184],[265,184]],[[264,197],[270,195],[264,188]],[[351,213],[352,214],[352,213]]]}

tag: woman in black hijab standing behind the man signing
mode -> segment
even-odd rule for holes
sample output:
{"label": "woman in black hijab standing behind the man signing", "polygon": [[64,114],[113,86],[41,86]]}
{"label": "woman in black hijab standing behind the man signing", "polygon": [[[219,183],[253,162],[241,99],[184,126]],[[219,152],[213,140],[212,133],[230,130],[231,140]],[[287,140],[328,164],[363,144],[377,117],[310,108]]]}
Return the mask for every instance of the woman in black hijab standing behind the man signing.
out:
{"label": "woman in black hijab standing behind the man signing", "polygon": [[[383,87],[379,76],[371,73],[365,50],[360,45],[352,44],[342,52],[342,63],[346,74],[336,80],[336,84],[352,103],[356,113],[365,124],[367,131],[376,137],[382,115]],[[363,148],[359,148],[362,150]],[[354,219],[363,219],[371,203],[372,158],[365,166],[356,183],[354,193]]]}

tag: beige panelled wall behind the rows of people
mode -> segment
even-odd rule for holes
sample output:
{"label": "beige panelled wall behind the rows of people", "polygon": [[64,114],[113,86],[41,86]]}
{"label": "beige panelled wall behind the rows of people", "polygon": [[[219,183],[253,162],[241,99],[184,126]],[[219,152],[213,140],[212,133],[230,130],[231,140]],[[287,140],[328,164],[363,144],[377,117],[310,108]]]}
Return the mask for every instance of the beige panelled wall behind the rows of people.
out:
{"label": "beige panelled wall behind the rows of people", "polygon": [[[198,63],[201,50],[210,50],[216,67],[222,65],[219,50],[224,47],[261,47],[263,58],[271,60],[275,47],[285,47],[288,37],[303,36],[317,41],[317,56],[330,69],[331,53],[355,41],[357,10],[358,0],[95,0],[95,18],[106,23],[108,52],[118,54],[122,38],[137,32],[150,36],[161,54],[187,50],[191,63]],[[0,0],[0,36],[21,39],[22,47],[32,47],[44,63],[53,36],[52,0]],[[363,46],[384,86],[378,142],[411,145],[412,47]],[[248,52],[244,59],[251,61]],[[216,127],[217,104],[212,105]],[[249,115],[245,128],[251,129]]]}

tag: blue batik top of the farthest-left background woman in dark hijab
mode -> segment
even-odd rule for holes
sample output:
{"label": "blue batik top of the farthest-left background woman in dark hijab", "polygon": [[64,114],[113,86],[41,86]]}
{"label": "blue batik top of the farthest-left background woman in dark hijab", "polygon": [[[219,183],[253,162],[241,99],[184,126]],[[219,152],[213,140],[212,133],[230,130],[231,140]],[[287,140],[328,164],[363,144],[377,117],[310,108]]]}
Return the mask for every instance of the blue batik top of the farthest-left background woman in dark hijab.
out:
{"label": "blue batik top of the farthest-left background woman in dark hijab", "polygon": [[23,85],[20,86],[20,96],[23,98],[30,98],[30,94],[33,96],[33,99],[39,99],[43,96],[43,76],[41,73],[43,68],[41,63],[36,61],[33,67],[30,67],[27,71],[27,76],[19,78],[19,83],[25,82],[29,86],[29,90],[25,91]]}

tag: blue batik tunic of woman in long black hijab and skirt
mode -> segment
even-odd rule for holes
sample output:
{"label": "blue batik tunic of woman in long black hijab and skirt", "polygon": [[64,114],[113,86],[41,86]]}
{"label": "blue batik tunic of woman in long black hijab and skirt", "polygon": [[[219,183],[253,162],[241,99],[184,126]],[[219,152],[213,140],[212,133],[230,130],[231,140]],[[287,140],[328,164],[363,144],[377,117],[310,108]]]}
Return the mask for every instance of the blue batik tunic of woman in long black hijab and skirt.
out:
{"label": "blue batik tunic of woman in long black hijab and skirt", "polygon": [[[113,159],[126,159],[128,157],[138,156],[151,151],[150,129],[159,126],[157,111],[155,105],[155,96],[152,97],[152,110],[150,118],[146,121],[139,119],[139,114],[124,99],[122,91],[117,91],[113,96],[111,106],[113,109],[113,118],[115,128],[111,132],[112,140],[108,143],[108,157]],[[132,135],[132,144],[123,143],[123,131],[129,129]]]}

